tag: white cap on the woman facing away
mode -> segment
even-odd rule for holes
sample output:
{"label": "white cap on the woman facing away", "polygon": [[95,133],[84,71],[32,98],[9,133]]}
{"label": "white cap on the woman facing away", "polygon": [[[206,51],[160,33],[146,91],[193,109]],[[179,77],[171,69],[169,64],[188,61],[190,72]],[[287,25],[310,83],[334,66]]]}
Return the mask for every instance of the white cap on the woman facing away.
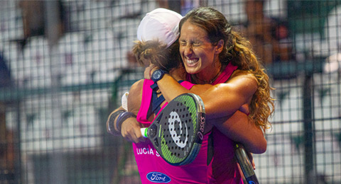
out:
{"label": "white cap on the woman facing away", "polygon": [[156,8],[146,14],[137,28],[137,39],[140,41],[158,40],[171,46],[178,39],[181,16],[175,11]]}

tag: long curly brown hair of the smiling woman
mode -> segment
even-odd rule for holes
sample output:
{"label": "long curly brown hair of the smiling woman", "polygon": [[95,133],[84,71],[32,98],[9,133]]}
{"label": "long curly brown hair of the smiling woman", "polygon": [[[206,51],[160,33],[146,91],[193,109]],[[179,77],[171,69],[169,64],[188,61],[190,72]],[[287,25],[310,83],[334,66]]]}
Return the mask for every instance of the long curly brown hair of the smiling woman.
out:
{"label": "long curly brown hair of the smiling woman", "polygon": [[269,86],[269,76],[250,42],[233,30],[225,16],[215,8],[200,7],[188,12],[180,21],[180,30],[186,21],[204,29],[212,45],[224,40],[224,49],[219,55],[222,65],[232,62],[240,71],[255,76],[258,88],[251,100],[249,117],[265,132],[271,127],[269,116],[274,112],[274,98],[271,98],[270,91],[274,88]]}

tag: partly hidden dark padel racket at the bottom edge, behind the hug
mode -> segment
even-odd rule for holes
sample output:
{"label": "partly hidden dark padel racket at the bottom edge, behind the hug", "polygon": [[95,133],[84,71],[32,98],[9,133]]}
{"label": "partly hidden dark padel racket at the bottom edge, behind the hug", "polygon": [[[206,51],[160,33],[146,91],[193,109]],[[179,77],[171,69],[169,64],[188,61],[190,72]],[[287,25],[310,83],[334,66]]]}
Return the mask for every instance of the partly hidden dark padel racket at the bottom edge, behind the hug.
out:
{"label": "partly hidden dark padel racket at the bottom edge, behind the hug", "polygon": [[234,144],[234,156],[236,156],[247,183],[259,184],[256,173],[254,173],[254,168],[252,167],[251,161],[249,160],[247,152],[242,144]]}

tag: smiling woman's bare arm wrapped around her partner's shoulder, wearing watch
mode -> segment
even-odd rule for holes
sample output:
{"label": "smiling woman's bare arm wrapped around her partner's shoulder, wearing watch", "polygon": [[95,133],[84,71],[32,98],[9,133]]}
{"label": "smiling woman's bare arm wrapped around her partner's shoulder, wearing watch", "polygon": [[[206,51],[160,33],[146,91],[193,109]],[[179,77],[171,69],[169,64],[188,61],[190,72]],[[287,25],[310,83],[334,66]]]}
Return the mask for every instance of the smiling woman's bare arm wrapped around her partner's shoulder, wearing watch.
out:
{"label": "smiling woman's bare arm wrapped around her partner's shoulder, wearing watch", "polygon": [[[151,73],[149,72],[150,69],[151,67],[148,67],[145,71],[146,79]],[[251,98],[257,89],[256,79],[251,74],[235,75],[227,83],[212,86],[203,93],[189,91],[178,84],[169,74],[165,74],[161,80],[157,81],[157,84],[168,102],[183,93],[199,95],[205,104],[207,119],[232,115],[242,105],[251,102]]]}

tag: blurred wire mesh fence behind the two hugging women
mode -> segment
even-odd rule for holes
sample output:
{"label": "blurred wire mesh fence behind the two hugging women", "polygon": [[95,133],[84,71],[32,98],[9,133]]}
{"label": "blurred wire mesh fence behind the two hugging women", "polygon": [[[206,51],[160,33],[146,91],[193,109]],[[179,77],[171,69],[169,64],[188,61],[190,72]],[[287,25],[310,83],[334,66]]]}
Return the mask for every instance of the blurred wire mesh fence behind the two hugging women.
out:
{"label": "blurred wire mesh fence behind the two hugging women", "polygon": [[280,0],[264,2],[266,42],[238,0],[0,1],[0,183],[140,183],[107,115],[143,77],[129,50],[144,14],[196,6],[245,30],[276,88],[261,183],[341,183],[341,1]]}

